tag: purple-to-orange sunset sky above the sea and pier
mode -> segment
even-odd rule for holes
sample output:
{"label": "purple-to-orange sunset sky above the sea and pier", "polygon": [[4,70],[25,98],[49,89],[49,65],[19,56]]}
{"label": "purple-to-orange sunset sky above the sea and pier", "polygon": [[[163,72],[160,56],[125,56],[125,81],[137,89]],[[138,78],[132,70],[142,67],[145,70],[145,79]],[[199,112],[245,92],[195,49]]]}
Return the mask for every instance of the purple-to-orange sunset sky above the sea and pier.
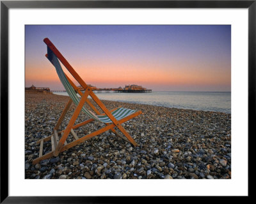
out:
{"label": "purple-to-orange sunset sky above the sea and pier", "polygon": [[43,40],[49,38],[82,79],[98,88],[138,84],[153,91],[231,90],[231,26],[25,29],[26,87],[64,90],[45,58]]}

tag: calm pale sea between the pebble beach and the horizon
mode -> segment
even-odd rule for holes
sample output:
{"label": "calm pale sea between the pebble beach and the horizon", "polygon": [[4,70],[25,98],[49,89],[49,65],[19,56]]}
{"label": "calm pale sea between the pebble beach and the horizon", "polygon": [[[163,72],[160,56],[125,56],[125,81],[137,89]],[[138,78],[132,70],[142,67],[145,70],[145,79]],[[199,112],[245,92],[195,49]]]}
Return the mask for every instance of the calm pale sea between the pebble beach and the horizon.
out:
{"label": "calm pale sea between the pebble beach and the horizon", "polygon": [[[67,92],[56,91],[53,93],[67,95]],[[102,100],[231,113],[231,92],[156,91],[152,93],[110,92],[95,94]]]}

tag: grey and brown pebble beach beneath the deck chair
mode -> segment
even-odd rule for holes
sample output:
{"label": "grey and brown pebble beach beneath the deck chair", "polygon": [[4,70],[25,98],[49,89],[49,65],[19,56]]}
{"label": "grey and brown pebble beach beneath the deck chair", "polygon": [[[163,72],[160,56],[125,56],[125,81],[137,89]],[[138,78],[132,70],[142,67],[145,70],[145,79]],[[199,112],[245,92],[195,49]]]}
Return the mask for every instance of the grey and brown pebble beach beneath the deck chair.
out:
{"label": "grey and brown pebble beach beneath the deck chair", "polygon": [[[138,146],[108,131],[33,165],[39,155],[36,141],[52,135],[68,97],[26,92],[25,98],[26,179],[231,178],[231,114],[102,100],[108,109],[122,106],[142,111],[122,124]],[[61,130],[75,107],[70,107]],[[86,119],[82,112],[76,123]],[[104,126],[92,122],[75,132],[82,137]],[[68,136],[67,143],[73,140]],[[47,152],[51,141],[44,143],[43,154]]]}

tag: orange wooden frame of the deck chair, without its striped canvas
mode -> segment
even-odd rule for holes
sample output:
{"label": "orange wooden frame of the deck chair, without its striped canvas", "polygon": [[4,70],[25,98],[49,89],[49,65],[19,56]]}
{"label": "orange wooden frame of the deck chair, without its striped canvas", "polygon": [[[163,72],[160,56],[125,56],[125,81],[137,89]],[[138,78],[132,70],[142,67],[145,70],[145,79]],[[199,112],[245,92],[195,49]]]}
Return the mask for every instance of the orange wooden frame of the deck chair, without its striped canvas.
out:
{"label": "orange wooden frame of the deck chair, without its striped canvas", "polygon": [[[61,130],[58,132],[61,122],[63,121],[65,114],[67,114],[67,111],[72,104],[72,98],[70,98],[70,100],[68,100],[67,105],[63,109],[63,112],[61,113],[61,116],[60,116],[58,122],[56,123],[56,126],[54,127],[54,131],[53,131],[52,135],[49,137],[45,137],[44,139],[40,139],[39,141],[36,142],[36,144],[38,144],[38,145],[40,144],[39,157],[33,160],[33,164],[36,164],[44,159],[49,159],[50,157],[53,157],[53,156],[57,157],[60,152],[68,150],[69,148],[72,148],[73,146],[79,145],[92,137],[95,137],[99,134],[102,134],[103,132],[106,132],[107,130],[111,130],[112,132],[114,132],[116,134],[116,136],[121,137],[122,139],[131,143],[134,146],[137,146],[137,143],[134,141],[134,139],[132,139],[132,137],[124,129],[124,127],[122,127],[121,124],[124,122],[127,122],[128,120],[130,120],[131,118],[134,118],[135,116],[140,115],[141,111],[136,111],[135,113],[132,113],[129,116],[122,118],[121,120],[116,120],[116,118],[113,116],[113,114],[111,114],[113,111],[115,111],[115,109],[109,111],[106,108],[106,106],[104,106],[104,104],[99,100],[99,98],[95,95],[95,93],[93,93],[92,88],[90,88],[90,86],[88,86],[83,81],[83,79],[81,79],[81,77],[77,74],[77,72],[74,70],[74,68],[71,67],[71,65],[68,63],[68,61],[62,56],[60,51],[58,51],[58,49],[56,49],[56,47],[53,45],[53,43],[48,38],[45,38],[44,42],[47,45],[47,47],[49,47],[49,49],[51,49],[51,51],[61,61],[61,63],[65,66],[65,68],[67,68],[68,72],[70,72],[70,74],[74,77],[74,79],[76,79],[76,81],[79,82],[79,84],[84,88],[84,93],[82,93],[79,90],[79,88],[77,88],[77,86],[74,84],[74,82],[72,82],[70,80],[70,78],[68,78],[68,76],[65,74],[65,76],[68,79],[68,82],[70,82],[70,84],[72,85],[72,87],[74,88],[76,93],[78,93],[81,96],[81,99],[80,99],[79,104],[77,105],[74,113],[72,114],[72,117],[70,118],[70,121],[68,122],[67,127],[64,130]],[[47,54],[45,54],[45,56],[47,57]],[[89,120],[85,120],[84,122],[78,123],[77,125],[74,125],[83,105],[85,103],[87,103],[90,107],[92,107],[93,111],[95,111],[96,114],[100,115],[100,112],[97,110],[97,108],[95,106],[93,106],[93,104],[90,102],[90,100],[88,100],[88,96],[92,97],[94,102],[100,107],[100,109],[102,109],[103,113],[101,115],[106,114],[106,116],[108,116],[108,118],[111,120],[112,123],[105,123],[106,126],[103,127],[102,129],[96,130],[95,132],[92,132],[90,134],[87,134],[87,135],[79,138],[79,137],[77,137],[76,133],[74,132],[74,129],[77,129],[83,125],[86,125],[86,124],[94,121],[94,119],[89,119]],[[119,129],[122,132],[122,134],[124,134],[125,137],[118,134],[116,132],[115,128]],[[70,133],[74,137],[74,141],[67,143],[66,139]],[[59,137],[59,135],[61,137]],[[43,155],[43,146],[44,146],[45,141],[51,141],[52,151],[49,153],[45,153],[45,155]]]}

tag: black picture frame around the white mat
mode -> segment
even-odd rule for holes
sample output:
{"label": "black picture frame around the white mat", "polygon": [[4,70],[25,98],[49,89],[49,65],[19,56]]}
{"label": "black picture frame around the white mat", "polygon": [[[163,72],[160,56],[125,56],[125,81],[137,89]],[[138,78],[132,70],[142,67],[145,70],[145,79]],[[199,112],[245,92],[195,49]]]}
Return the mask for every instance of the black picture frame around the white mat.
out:
{"label": "black picture frame around the white mat", "polygon": [[[114,203],[123,197],[13,197],[8,194],[8,10],[10,8],[248,8],[248,139],[255,136],[256,0],[253,1],[1,1],[1,203]],[[251,139],[250,139],[251,141]],[[248,142],[248,150],[250,144]],[[248,158],[250,153],[248,152]],[[249,162],[248,162],[249,165]],[[250,169],[250,165],[248,166]],[[249,173],[249,172],[248,172]],[[248,184],[250,179],[248,180]],[[248,191],[250,197],[250,191]],[[187,197],[188,198],[188,197]],[[193,201],[195,197],[189,198]],[[140,201],[136,198],[136,201]],[[143,198],[144,200],[144,198]],[[150,198],[151,201],[154,201]],[[142,200],[141,200],[142,201]]]}

